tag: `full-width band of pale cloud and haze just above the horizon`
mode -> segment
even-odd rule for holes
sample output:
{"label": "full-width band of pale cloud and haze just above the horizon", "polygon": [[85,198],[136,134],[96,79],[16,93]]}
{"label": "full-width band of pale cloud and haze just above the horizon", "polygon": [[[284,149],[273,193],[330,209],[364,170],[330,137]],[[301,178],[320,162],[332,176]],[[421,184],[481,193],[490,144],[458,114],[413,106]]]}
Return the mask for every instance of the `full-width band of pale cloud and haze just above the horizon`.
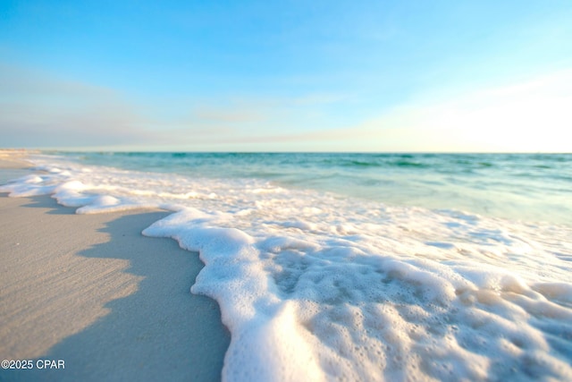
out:
{"label": "full-width band of pale cloud and haze just above the horizon", "polygon": [[[180,101],[173,114],[114,89],[0,67],[2,144],[38,148],[332,151],[572,151],[572,71],[417,98],[362,121],[336,121],[354,98]],[[185,111],[186,110],[186,111]],[[161,115],[161,116],[159,116]]]}

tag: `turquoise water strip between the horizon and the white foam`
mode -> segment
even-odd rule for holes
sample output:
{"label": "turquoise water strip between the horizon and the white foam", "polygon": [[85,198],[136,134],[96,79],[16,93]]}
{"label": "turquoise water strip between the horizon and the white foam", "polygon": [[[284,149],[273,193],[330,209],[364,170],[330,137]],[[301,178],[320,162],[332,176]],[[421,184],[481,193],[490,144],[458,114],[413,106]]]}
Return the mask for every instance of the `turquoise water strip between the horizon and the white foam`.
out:
{"label": "turquoise water strip between the horizon and the white foam", "polygon": [[65,155],[89,165],[207,178],[257,178],[389,206],[458,209],[572,225],[572,154]]}

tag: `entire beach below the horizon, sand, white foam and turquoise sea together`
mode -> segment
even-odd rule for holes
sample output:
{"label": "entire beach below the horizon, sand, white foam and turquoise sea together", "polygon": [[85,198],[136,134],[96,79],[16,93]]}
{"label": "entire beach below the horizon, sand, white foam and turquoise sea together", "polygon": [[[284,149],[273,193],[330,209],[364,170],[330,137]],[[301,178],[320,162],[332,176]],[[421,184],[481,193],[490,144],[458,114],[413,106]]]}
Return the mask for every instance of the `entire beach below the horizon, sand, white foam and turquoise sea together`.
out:
{"label": "entire beach below the horizon, sand, white foam and turquoise sea together", "polygon": [[572,378],[569,155],[14,153],[0,380]]}

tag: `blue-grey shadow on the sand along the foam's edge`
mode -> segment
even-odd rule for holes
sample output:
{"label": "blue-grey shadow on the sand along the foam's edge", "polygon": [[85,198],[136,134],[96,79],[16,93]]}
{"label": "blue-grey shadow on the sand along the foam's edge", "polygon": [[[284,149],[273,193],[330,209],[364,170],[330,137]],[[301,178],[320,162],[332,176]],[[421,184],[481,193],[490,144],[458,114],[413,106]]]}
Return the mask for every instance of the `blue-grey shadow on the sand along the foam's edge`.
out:
{"label": "blue-grey shadow on the sand along the foam's edge", "polygon": [[[73,213],[72,208],[50,206],[46,197],[32,199],[25,207],[46,204],[55,208],[49,213]],[[0,373],[0,379],[219,380],[230,335],[217,303],[189,292],[203,267],[198,253],[181,250],[169,239],[141,235],[166,215],[161,211],[121,215],[100,229],[109,235],[108,242],[79,252],[86,258],[127,259],[130,267],[124,272],[140,281],[135,293],[105,304],[110,310],[105,317],[33,360],[35,364],[63,360],[65,369],[19,370]]]}

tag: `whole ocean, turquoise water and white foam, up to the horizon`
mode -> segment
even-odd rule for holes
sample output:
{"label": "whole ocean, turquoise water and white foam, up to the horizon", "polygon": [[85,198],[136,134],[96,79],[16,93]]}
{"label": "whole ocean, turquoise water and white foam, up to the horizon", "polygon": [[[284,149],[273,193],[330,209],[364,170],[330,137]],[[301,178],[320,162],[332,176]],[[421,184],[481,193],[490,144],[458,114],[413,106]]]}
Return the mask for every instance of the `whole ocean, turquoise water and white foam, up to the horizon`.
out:
{"label": "whole ocean, turquoise water and white foam, up to the horizon", "polygon": [[[225,380],[572,380],[572,155],[31,155],[0,186],[164,208]],[[192,323],[189,323],[192,325]]]}

